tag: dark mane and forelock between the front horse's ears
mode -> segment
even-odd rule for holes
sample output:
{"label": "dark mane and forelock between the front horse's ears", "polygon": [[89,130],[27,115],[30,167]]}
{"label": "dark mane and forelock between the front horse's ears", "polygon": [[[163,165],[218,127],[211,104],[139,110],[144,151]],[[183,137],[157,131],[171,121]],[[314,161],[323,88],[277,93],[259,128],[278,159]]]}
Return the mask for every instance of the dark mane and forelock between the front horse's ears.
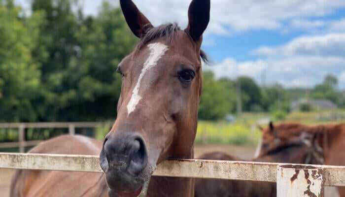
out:
{"label": "dark mane and forelock between the front horse's ears", "polygon": [[[157,27],[148,28],[141,36],[137,49],[140,49],[154,39],[162,37],[165,38],[168,44],[171,44],[174,34],[180,30],[181,28],[177,25],[177,23],[167,23]],[[202,50],[200,50],[200,57],[205,63],[208,63],[207,55]]]}

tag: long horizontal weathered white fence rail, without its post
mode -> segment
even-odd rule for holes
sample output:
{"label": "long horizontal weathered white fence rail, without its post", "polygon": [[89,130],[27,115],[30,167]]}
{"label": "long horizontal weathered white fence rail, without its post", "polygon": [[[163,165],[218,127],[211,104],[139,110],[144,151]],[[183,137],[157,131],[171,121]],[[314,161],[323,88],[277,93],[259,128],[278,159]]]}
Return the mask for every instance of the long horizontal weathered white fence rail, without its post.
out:
{"label": "long horizontal weathered white fence rail, without its post", "polygon": [[[159,164],[153,175],[276,182],[278,165],[281,164],[170,160]],[[312,166],[324,169],[324,185],[345,186],[345,166]],[[102,172],[99,157],[86,155],[0,153],[0,168]]]}

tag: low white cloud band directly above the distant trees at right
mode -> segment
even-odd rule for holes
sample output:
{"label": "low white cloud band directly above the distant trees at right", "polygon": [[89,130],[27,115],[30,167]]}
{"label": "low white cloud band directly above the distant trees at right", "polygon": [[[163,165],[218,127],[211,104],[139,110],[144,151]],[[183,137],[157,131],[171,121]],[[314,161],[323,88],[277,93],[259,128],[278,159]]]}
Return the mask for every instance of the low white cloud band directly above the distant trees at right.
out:
{"label": "low white cloud band directly above the distant trees at right", "polygon": [[[345,81],[345,57],[293,56],[245,62],[228,58],[220,64],[206,66],[204,70],[212,70],[218,78],[246,75],[259,84],[278,82],[286,87],[312,87],[328,73],[337,76],[344,71],[339,79]],[[345,83],[340,83],[340,87],[345,88]]]}

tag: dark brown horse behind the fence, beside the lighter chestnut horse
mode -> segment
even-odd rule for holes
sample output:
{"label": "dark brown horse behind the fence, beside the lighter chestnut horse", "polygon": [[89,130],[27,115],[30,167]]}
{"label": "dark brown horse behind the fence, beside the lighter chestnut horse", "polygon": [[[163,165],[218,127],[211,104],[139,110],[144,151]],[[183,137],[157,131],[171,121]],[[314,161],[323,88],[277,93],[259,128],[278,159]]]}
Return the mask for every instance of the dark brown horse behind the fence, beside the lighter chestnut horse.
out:
{"label": "dark brown horse behind the fence, beside the lighter chestnut horse", "polygon": [[[250,162],[321,164],[322,152],[315,143],[299,139],[276,147]],[[222,152],[200,156],[202,160],[245,161]],[[276,197],[276,183],[242,180],[196,179],[195,197]]]}

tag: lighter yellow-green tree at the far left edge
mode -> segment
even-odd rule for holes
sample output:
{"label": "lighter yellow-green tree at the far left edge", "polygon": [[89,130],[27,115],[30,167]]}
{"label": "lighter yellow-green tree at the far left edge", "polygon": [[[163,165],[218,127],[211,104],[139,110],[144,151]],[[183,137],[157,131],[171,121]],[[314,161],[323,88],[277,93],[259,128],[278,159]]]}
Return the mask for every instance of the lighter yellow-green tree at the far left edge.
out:
{"label": "lighter yellow-green tree at the far left edge", "polygon": [[[32,52],[38,47],[42,12],[19,17],[12,0],[0,0],[0,121],[36,121],[31,100],[40,85],[40,64]],[[44,53],[44,52],[43,52]]]}

